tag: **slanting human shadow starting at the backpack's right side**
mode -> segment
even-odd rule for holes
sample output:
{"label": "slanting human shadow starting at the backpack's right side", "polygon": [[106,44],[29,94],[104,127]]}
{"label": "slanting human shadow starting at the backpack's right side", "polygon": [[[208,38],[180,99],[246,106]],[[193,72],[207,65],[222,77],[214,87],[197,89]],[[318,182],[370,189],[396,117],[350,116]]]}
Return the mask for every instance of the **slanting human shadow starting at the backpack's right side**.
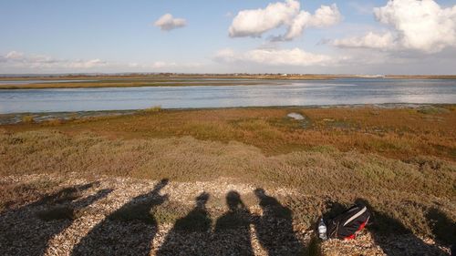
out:
{"label": "slanting human shadow starting at the backpack's right side", "polygon": [[[389,256],[403,255],[445,255],[444,251],[434,245],[430,245],[420,240],[399,220],[389,217],[387,214],[375,210],[368,200],[358,199],[357,204],[365,205],[371,212],[371,217],[367,225],[367,230],[372,235],[374,242],[381,250]],[[328,217],[334,218],[338,214],[347,210],[339,203],[331,203]]]}

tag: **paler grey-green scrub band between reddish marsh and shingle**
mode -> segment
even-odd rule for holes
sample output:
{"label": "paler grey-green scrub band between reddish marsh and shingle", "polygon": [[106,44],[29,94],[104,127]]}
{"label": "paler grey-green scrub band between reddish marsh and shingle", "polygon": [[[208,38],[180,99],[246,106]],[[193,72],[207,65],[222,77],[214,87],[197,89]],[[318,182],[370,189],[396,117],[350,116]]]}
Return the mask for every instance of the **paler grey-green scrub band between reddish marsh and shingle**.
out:
{"label": "paler grey-green scrub band between reddish marsh and shingle", "polygon": [[227,177],[258,187],[296,189],[302,196],[281,200],[307,225],[326,202],[348,204],[357,198],[421,234],[431,233],[425,216],[433,208],[456,220],[456,166],[433,157],[404,162],[330,147],[267,157],[259,148],[239,142],[108,139],[51,131],[6,133],[0,145],[2,176],[78,173],[177,181]]}

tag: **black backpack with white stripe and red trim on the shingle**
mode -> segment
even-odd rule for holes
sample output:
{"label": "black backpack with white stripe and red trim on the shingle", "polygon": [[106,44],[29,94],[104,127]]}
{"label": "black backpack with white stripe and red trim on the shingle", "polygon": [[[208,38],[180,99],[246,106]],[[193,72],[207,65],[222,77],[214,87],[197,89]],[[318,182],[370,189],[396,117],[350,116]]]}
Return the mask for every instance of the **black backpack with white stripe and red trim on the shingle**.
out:
{"label": "black backpack with white stripe and red trim on the shingle", "polygon": [[327,236],[337,239],[354,239],[368,224],[370,212],[365,205],[356,204],[334,219],[327,220]]}

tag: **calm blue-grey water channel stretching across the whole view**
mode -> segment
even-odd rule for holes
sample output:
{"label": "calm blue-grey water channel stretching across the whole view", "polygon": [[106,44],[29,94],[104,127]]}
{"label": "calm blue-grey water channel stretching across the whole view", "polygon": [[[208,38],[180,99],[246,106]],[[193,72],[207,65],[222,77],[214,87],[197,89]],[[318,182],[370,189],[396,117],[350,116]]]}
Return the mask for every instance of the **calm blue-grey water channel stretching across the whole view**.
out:
{"label": "calm blue-grey water channel stretching across the whole view", "polygon": [[[283,83],[284,81],[281,81]],[[287,85],[0,90],[0,113],[456,103],[456,80],[340,79]]]}

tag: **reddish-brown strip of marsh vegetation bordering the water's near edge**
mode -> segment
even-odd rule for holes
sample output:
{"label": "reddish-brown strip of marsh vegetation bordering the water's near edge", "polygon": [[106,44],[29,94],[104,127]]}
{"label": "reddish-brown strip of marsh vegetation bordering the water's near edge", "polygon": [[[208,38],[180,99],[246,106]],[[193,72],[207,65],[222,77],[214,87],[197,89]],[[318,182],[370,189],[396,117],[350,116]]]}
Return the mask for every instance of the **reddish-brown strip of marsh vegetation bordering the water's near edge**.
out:
{"label": "reddish-brown strip of marsh vegetation bordering the water's near edge", "polygon": [[[437,110],[436,110],[437,109]],[[290,112],[305,121],[286,118]],[[407,160],[415,156],[456,159],[456,108],[227,108],[146,111],[115,118],[88,118],[62,125],[5,126],[9,131],[55,128],[91,131],[109,138],[192,136],[239,141],[266,155],[330,146]]]}

